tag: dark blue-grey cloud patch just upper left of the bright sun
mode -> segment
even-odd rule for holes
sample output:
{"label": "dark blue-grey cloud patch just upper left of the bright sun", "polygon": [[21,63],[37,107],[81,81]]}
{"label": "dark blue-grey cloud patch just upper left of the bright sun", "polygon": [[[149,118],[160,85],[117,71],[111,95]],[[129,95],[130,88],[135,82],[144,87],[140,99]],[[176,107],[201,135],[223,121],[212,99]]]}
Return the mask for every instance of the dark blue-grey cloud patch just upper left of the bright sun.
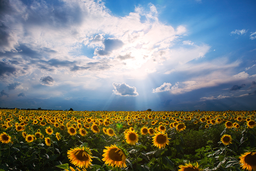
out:
{"label": "dark blue-grey cloud patch just upper left of the bright sun", "polygon": [[110,54],[113,50],[116,50],[118,48],[121,48],[124,43],[121,40],[118,39],[105,39],[103,41],[104,49],[95,50],[94,53],[104,56]]}

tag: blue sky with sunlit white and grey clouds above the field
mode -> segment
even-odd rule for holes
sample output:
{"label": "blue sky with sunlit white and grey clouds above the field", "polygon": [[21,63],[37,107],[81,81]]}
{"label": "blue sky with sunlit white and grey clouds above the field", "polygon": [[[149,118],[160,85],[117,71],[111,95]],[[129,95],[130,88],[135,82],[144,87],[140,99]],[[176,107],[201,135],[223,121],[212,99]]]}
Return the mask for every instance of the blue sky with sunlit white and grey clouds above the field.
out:
{"label": "blue sky with sunlit white and grey clouds above the field", "polygon": [[0,0],[0,107],[256,110],[255,0]]}

